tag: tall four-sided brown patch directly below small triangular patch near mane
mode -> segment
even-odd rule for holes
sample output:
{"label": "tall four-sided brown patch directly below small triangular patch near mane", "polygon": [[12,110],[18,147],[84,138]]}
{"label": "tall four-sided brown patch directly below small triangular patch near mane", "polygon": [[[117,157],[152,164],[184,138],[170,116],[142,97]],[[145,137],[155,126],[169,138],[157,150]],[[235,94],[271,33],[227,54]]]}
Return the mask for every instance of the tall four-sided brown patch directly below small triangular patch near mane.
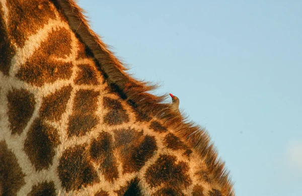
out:
{"label": "tall four-sided brown patch directly below small triangular patch near mane", "polygon": [[98,105],[100,92],[79,90],[74,97],[73,111],[69,117],[67,136],[83,136],[90,132],[99,122],[94,114]]}

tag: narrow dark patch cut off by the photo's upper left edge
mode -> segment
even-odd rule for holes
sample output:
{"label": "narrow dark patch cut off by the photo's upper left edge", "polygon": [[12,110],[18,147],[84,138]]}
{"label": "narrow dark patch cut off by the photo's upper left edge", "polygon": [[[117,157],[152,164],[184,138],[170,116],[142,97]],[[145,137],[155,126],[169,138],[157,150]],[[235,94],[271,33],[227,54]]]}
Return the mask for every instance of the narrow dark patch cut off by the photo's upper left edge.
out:
{"label": "narrow dark patch cut off by the photo's upper left edge", "polygon": [[9,75],[11,61],[16,54],[16,50],[9,39],[4,21],[2,4],[0,4],[0,71],[5,75]]}

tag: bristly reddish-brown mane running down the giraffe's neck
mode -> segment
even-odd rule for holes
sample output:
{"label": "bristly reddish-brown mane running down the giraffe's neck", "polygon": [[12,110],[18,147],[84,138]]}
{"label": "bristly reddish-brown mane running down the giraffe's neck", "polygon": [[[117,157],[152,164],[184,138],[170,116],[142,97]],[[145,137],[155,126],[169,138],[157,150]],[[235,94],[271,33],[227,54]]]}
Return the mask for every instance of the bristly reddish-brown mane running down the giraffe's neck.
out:
{"label": "bristly reddish-brown mane running down the giraffe's neck", "polygon": [[126,100],[136,112],[143,111],[147,116],[158,118],[165,126],[173,129],[180,138],[205,158],[209,172],[221,185],[222,190],[235,195],[229,171],[225,169],[224,162],[218,158],[207,131],[193,122],[188,122],[187,118],[181,118],[172,113],[169,105],[163,104],[165,95],[156,96],[149,93],[150,90],[156,89],[157,85],[136,80],[126,73],[127,68],[101,41],[100,36],[90,28],[83,9],[73,0],[52,0],[52,2],[58,10],[62,11],[72,31],[85,44],[87,54],[95,59],[97,68],[104,73],[112,89],[119,93],[121,98]]}

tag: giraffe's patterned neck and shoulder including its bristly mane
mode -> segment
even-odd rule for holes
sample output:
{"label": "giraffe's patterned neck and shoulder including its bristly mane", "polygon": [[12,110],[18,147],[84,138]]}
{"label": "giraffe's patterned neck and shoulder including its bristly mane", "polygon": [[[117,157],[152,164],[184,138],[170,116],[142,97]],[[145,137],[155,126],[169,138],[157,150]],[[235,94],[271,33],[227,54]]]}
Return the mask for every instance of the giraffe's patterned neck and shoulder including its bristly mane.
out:
{"label": "giraffe's patterned neck and shoulder including its bristly mane", "polygon": [[75,2],[0,2],[0,195],[235,195],[207,132],[129,76]]}

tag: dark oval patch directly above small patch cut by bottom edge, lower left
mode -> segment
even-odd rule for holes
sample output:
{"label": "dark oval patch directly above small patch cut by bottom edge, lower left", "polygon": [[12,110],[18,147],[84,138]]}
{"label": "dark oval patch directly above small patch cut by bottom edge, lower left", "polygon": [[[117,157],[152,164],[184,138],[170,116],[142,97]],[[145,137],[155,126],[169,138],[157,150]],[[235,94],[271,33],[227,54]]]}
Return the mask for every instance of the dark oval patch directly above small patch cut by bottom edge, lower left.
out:
{"label": "dark oval patch directly above small patch cut by bottom edge, lower left", "polygon": [[27,132],[24,151],[36,170],[40,171],[52,165],[54,149],[59,143],[58,131],[36,119]]}

